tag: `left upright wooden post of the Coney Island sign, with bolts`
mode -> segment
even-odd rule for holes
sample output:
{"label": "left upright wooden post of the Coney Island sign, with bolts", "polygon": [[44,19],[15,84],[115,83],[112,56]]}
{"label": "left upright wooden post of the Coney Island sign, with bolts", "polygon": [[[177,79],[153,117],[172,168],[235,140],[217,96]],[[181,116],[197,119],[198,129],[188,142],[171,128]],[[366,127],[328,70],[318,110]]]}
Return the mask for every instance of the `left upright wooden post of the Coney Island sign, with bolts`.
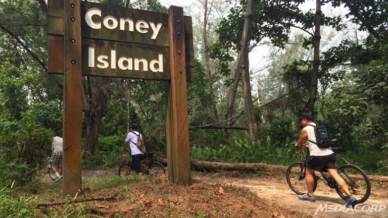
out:
{"label": "left upright wooden post of the Coney Island sign, with bolts", "polygon": [[79,0],[64,1],[63,196],[81,190],[81,15]]}

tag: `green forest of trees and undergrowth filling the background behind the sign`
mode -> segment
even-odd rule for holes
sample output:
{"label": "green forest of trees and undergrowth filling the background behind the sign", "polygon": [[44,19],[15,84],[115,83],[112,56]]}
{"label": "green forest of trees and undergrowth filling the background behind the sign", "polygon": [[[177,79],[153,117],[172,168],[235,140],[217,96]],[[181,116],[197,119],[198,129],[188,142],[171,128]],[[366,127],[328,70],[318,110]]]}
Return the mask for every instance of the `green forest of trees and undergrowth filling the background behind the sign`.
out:
{"label": "green forest of trees and undergrowth filling the background behind the sign", "polygon": [[[158,0],[95,2],[167,12]],[[307,2],[197,0],[184,9],[196,52],[191,159],[288,165],[299,158],[296,118],[311,112],[345,159],[388,173],[388,3]],[[1,0],[0,188],[34,181],[53,133],[62,134],[63,76],[46,71],[46,1]],[[82,97],[83,167],[113,167],[133,122],[148,150],[166,155],[165,82],[83,77]]]}

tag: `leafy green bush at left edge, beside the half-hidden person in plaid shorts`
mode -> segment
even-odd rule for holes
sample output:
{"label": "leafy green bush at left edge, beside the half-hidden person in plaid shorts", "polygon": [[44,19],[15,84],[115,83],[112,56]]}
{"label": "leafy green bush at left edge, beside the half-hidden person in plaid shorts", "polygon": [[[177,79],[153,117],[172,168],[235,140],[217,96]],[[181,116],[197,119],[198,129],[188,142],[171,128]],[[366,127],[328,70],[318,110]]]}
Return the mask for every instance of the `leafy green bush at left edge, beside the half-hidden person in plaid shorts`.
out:
{"label": "leafy green bush at left edge, beside the half-hidden person in plaid shorts", "polygon": [[45,157],[51,152],[53,131],[33,123],[0,121],[0,180],[24,185],[44,168]]}

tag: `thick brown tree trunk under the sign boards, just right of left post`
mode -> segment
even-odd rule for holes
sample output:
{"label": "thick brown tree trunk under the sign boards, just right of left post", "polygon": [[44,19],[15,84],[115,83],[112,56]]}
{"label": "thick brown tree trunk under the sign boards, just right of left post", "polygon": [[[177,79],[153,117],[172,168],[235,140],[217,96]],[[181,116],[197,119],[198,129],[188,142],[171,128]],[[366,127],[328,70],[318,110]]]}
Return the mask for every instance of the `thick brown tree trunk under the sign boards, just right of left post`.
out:
{"label": "thick brown tree trunk under the sign boards, just right of left post", "polygon": [[[89,96],[84,92],[84,113],[87,120],[85,133],[85,152],[83,158],[94,154],[98,148],[98,140],[102,119],[107,104],[107,86],[109,78],[96,77],[96,84],[93,89],[89,86]],[[89,80],[88,80],[89,84]]]}

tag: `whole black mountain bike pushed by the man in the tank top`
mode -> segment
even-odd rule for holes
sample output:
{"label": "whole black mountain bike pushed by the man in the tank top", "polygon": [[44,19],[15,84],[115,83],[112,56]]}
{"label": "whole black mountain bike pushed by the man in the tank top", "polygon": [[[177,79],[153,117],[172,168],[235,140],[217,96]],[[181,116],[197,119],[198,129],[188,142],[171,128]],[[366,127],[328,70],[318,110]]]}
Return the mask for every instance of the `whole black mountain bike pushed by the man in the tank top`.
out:
{"label": "whole black mountain bike pushed by the man in the tank top", "polygon": [[[337,154],[345,151],[341,147],[333,147],[331,150]],[[286,179],[288,186],[297,194],[303,195],[307,191],[307,186],[305,182],[306,177],[306,162],[310,152],[307,149],[306,156],[300,162],[292,163],[286,172]],[[350,193],[357,199],[357,203],[365,202],[370,195],[370,181],[368,176],[362,171],[359,167],[348,164],[337,167],[338,175],[340,175],[346,182],[346,185],[349,188]],[[340,195],[342,199],[345,200],[345,192],[337,185],[337,183],[329,176],[326,170],[322,172],[317,172],[314,177],[314,187],[313,191],[317,188],[318,180],[322,181],[325,185],[335,191]]]}

